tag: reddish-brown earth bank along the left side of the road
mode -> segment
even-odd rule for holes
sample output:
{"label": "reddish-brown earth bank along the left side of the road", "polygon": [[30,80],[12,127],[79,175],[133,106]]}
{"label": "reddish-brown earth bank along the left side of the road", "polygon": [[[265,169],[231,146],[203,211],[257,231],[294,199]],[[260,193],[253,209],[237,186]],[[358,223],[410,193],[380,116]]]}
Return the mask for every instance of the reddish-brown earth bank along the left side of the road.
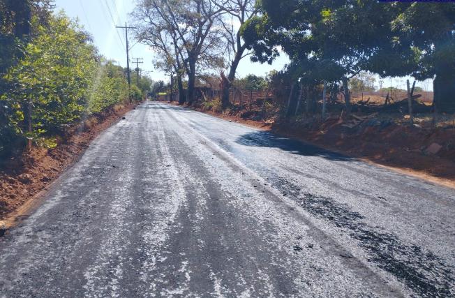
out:
{"label": "reddish-brown earth bank along the left side of the road", "polygon": [[[0,161],[0,220],[47,190],[52,181],[77,161],[97,135],[134,107],[117,105],[90,117],[68,130],[67,136],[59,139],[54,149],[33,147],[20,156]],[[4,224],[0,222],[0,233]]]}

